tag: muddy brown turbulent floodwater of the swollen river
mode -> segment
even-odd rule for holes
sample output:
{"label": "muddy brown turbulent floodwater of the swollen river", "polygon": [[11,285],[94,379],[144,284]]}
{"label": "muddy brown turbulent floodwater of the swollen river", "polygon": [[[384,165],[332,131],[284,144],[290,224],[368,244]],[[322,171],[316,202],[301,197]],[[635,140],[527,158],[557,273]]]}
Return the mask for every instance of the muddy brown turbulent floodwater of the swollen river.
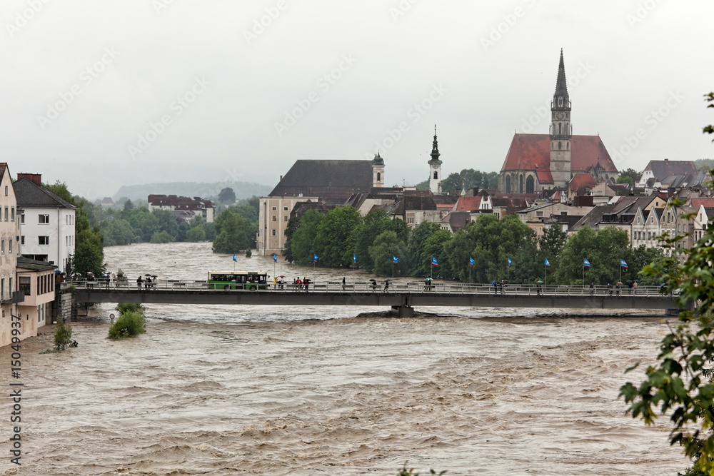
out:
{"label": "muddy brown turbulent floodwater of the swollen river", "polygon": [[[210,243],[105,253],[131,280],[233,269]],[[343,276],[275,266],[289,280]],[[236,269],[272,275],[273,260],[241,256]],[[688,466],[666,418],[645,427],[617,397],[643,378],[626,368],[654,361],[662,317],[375,311],[148,305],[146,334],[114,342],[116,311],[102,305],[98,320],[74,323],[79,347],[56,354],[39,354],[54,332],[41,328],[22,345],[19,467],[11,349],[0,349],[0,474],[396,475],[407,462],[421,474],[674,476]]]}

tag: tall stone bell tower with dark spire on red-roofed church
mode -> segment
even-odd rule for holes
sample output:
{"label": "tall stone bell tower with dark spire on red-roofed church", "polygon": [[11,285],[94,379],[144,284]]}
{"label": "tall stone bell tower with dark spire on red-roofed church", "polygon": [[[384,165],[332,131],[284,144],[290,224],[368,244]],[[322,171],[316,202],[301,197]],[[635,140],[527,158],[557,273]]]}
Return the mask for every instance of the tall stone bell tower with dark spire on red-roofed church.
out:
{"label": "tall stone bell tower with dark spire on red-roofed church", "polygon": [[573,127],[570,124],[570,97],[565,82],[563,49],[560,49],[558,80],[555,81],[553,102],[550,103],[550,174],[558,188],[567,188],[570,183],[570,143]]}

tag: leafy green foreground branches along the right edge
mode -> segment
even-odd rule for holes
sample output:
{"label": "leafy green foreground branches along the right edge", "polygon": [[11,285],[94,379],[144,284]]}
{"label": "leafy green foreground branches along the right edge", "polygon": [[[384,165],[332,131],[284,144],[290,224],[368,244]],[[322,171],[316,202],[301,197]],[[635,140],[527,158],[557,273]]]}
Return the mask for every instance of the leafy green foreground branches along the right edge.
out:
{"label": "leafy green foreground branches along the right edge", "polygon": [[[710,93],[708,107],[714,107]],[[712,126],[705,133],[714,133]],[[667,240],[670,245],[681,237]],[[714,221],[690,250],[674,248],[685,255],[645,267],[645,274],[663,280],[665,293],[679,291],[677,303],[684,310],[679,324],[660,343],[658,365],[645,370],[646,378],[626,383],[620,396],[628,411],[651,425],[659,415],[670,415],[670,443],[679,444],[693,466],[688,475],[714,474]],[[692,305],[697,310],[691,310]],[[628,369],[628,371],[636,368]]]}

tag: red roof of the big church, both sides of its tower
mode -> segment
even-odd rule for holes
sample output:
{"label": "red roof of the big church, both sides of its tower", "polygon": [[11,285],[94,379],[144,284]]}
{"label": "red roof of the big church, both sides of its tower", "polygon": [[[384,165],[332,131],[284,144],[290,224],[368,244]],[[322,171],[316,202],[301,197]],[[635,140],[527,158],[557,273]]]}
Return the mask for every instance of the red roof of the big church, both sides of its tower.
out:
{"label": "red roof of the big church, both sides of its tower", "polygon": [[[573,136],[570,141],[570,171],[587,172],[598,163],[604,172],[618,171],[600,136]],[[550,174],[550,136],[514,134],[501,171],[543,171]],[[547,175],[544,174],[543,178]],[[538,180],[541,180],[540,176]]]}

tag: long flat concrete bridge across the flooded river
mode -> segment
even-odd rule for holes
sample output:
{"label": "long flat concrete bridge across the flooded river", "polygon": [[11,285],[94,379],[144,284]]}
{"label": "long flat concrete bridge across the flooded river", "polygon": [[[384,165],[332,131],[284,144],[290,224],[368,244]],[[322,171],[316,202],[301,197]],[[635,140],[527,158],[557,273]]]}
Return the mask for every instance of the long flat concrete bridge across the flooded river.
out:
{"label": "long flat concrete bridge across the flooded river", "polygon": [[400,317],[411,317],[415,306],[473,308],[572,308],[648,309],[678,312],[675,296],[661,295],[655,286],[608,289],[598,286],[563,285],[463,285],[451,283],[394,282],[383,284],[326,283],[308,290],[285,285],[266,290],[214,290],[205,281],[159,280],[151,288],[138,289],[106,282],[75,282],[78,303],[142,303],[201,305],[281,305],[281,306],[381,306]]}

